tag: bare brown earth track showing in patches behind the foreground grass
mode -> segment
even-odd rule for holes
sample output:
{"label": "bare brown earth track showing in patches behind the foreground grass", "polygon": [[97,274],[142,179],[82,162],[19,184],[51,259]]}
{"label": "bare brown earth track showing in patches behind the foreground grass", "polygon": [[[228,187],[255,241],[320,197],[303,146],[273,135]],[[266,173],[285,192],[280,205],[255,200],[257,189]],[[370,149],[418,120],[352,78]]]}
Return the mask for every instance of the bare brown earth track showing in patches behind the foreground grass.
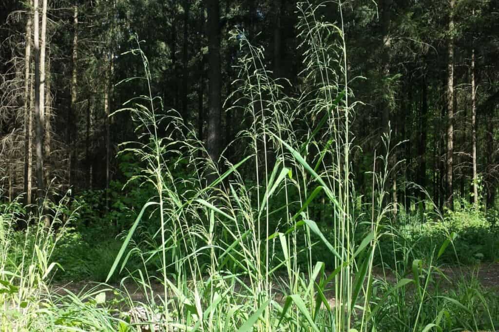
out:
{"label": "bare brown earth track showing in patches behind the foreground grass", "polygon": [[[473,266],[446,266],[441,268],[442,272],[449,278],[451,283],[457,282],[461,276],[471,277],[475,276],[481,282],[482,286],[490,291],[499,291],[499,262],[495,263],[482,263],[479,265]],[[374,274],[377,279],[383,278],[383,271],[379,268],[374,269]],[[412,278],[411,275],[405,276],[408,278]],[[282,277],[283,279],[285,277]],[[393,274],[386,274],[386,279],[388,282],[393,281],[395,283],[395,277]],[[448,283],[448,281],[443,281],[444,284]],[[274,283],[274,289],[276,294],[277,302],[284,302],[283,296],[279,296],[279,282]],[[331,285],[331,288],[333,285]],[[131,300],[134,302],[142,302],[147,303],[148,295],[142,287],[133,283],[133,282],[125,282],[124,285],[120,285],[119,283],[114,284],[101,284],[92,281],[77,281],[77,282],[57,282],[54,283],[50,289],[51,292],[56,293],[58,295],[64,295],[67,291],[70,291],[74,294],[84,294],[88,292],[90,289],[93,291],[98,291],[99,289],[109,289],[113,288],[119,291],[124,292],[124,294],[128,293]],[[152,289],[148,289],[148,294],[154,294],[155,298],[160,299],[164,297],[164,288],[160,282],[154,282],[151,284]],[[126,291],[125,291],[126,290]],[[106,292],[107,299],[114,298],[114,294],[111,292]],[[150,296],[150,295],[149,295]],[[169,294],[169,296],[172,296]],[[331,306],[334,306],[334,290],[328,291],[325,293],[325,296],[328,298],[328,302]],[[158,301],[159,302],[159,301]]]}

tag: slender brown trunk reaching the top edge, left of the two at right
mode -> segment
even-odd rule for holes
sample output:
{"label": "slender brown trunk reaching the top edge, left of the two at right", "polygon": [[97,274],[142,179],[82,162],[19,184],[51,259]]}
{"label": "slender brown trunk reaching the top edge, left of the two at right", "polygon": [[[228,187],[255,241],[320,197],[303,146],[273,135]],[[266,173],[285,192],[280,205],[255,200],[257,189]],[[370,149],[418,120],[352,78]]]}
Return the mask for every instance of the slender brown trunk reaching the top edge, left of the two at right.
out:
{"label": "slender brown trunk reaching the top edge, left of the two at right", "polygon": [[454,191],[452,175],[454,170],[454,6],[456,0],[450,1],[449,40],[447,63],[447,198],[445,206],[454,209]]}

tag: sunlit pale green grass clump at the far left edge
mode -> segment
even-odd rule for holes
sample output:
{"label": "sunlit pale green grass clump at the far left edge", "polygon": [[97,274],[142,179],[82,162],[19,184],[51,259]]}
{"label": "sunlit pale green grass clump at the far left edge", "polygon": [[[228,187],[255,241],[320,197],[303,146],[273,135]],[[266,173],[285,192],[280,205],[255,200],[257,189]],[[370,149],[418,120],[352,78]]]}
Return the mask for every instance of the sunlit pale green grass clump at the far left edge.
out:
{"label": "sunlit pale green grass clump at the far left edge", "polygon": [[[42,316],[51,306],[48,283],[57,264],[51,262],[54,247],[64,232],[61,200],[51,212],[54,227],[43,226],[43,214],[33,215],[14,200],[0,208],[0,322],[1,331],[36,330],[43,327]],[[21,232],[15,231],[24,227]]]}

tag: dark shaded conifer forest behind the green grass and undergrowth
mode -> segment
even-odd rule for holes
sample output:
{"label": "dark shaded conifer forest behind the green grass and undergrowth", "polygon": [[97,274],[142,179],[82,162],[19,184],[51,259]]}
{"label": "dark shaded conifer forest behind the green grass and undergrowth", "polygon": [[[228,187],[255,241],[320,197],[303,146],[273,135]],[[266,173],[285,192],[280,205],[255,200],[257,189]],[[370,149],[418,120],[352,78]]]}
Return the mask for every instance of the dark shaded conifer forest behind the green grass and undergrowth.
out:
{"label": "dark shaded conifer forest behind the green grass and undergrowth", "polygon": [[[25,202],[34,203],[36,189],[49,187],[52,195],[69,188],[73,195],[106,190],[107,202],[112,188],[126,181],[132,163],[126,155],[115,156],[120,143],[136,139],[135,124],[129,114],[109,115],[145,91],[146,82],[126,81],[142,71],[140,58],[123,54],[137,40],[149,58],[152,94],[162,98],[165,112],[176,110],[196,128],[214,160],[223,153],[237,162],[242,149],[236,134],[250,126],[242,111],[229,108],[238,101],[232,82],[238,78],[234,66],[242,33],[263,47],[264,65],[288,95],[303,90],[297,79],[304,50],[296,38],[296,1],[43,4],[41,116],[35,111],[32,3],[6,0],[0,7],[0,167],[7,199],[27,192]],[[339,21],[332,2],[320,14]],[[44,16],[42,6],[39,15]],[[392,202],[410,209],[411,202],[425,198],[407,185],[415,183],[440,208],[474,197],[494,206],[499,185],[497,1],[356,0],[347,1],[343,15],[348,70],[356,77],[352,98],[362,103],[351,127],[359,146],[351,160],[357,192],[370,195],[366,188],[372,179],[366,172],[372,170],[374,154],[383,150],[379,137],[391,130],[392,142],[405,141],[393,155],[393,164],[404,162],[391,179]],[[309,130],[308,125],[302,129]],[[169,134],[167,125],[164,134]],[[35,172],[39,167],[42,179]]]}

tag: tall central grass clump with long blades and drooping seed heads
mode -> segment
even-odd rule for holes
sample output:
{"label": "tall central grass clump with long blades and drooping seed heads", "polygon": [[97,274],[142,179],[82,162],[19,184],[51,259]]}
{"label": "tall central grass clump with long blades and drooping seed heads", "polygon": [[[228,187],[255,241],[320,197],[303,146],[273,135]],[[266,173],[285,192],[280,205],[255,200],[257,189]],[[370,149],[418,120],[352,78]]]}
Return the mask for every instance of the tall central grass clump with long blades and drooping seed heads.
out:
{"label": "tall central grass clump with long blades and drooping seed heads", "polygon": [[[144,216],[159,220],[159,246],[145,259],[161,260],[164,294],[152,296],[149,307],[156,310],[160,301],[167,330],[368,329],[373,254],[387,209],[373,205],[370,231],[355,238],[347,50],[342,22],[320,21],[321,6],[297,7],[305,59],[298,98],[284,96],[281,83],[286,83],[265,70],[262,49],[244,32],[233,33],[246,56],[229,111],[242,112],[248,128],[232,143],[248,147],[236,164],[223,156],[210,160],[194,130],[174,112],[157,115],[163,113],[162,102],[151,93],[140,43],[132,52],[142,57],[148,94],[120,110],[140,123],[140,141],[126,143],[123,151],[146,163],[137,177],[154,184],[157,196],[142,209],[109,276],[125,264],[125,250]],[[336,7],[341,17],[341,3]],[[172,168],[185,160],[192,176],[175,179]],[[328,215],[314,221],[309,206],[318,198],[327,202]],[[321,232],[324,223],[332,238]],[[314,259],[317,239],[330,252],[332,273]],[[298,261],[303,254],[306,264]],[[174,273],[167,272],[170,266]],[[152,289],[154,277],[139,270],[135,278]],[[331,283],[332,301],[326,296]]]}

